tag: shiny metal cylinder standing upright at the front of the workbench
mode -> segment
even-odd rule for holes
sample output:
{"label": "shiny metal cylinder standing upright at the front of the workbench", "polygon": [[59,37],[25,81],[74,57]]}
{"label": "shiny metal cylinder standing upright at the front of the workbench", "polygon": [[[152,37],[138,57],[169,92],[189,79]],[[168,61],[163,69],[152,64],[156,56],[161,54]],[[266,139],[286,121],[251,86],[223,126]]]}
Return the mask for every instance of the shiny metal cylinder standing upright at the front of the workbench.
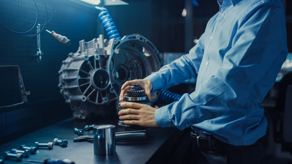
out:
{"label": "shiny metal cylinder standing upright at the front of the workbench", "polygon": [[116,152],[114,125],[93,126],[93,148],[96,155],[109,155]]}

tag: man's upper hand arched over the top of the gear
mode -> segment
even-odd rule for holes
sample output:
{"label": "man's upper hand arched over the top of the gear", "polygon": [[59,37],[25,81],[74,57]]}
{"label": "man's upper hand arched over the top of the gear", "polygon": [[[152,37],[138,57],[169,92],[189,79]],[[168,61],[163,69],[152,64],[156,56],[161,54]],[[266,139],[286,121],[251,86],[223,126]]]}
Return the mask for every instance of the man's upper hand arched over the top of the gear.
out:
{"label": "man's upper hand arched over the top of the gear", "polygon": [[145,93],[148,97],[148,100],[150,100],[150,91],[152,90],[152,83],[147,79],[137,79],[137,80],[131,80],[126,81],[122,87],[121,87],[121,93],[120,93],[120,102],[124,101],[124,96],[126,96],[126,90],[130,89],[132,84],[139,84],[141,88],[145,90]]}

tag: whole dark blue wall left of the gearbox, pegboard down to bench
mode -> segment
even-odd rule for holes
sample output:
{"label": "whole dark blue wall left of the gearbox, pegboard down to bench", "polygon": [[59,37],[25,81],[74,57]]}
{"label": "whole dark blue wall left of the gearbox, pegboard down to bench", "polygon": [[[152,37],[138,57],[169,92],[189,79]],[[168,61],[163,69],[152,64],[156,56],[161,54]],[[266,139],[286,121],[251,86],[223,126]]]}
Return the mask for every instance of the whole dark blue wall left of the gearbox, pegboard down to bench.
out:
{"label": "whole dark blue wall left of the gearbox, pegboard down to bench", "polygon": [[[44,24],[46,19],[44,3],[42,0],[36,0],[36,3],[39,24]],[[1,142],[72,115],[59,94],[58,70],[67,54],[77,51],[79,40],[92,40],[97,37],[98,10],[69,0],[46,0],[46,4],[48,20],[53,12],[53,6],[54,15],[44,29],[67,36],[71,44],[66,46],[59,43],[44,30],[41,32],[41,50],[44,55],[40,63],[35,60],[36,36],[20,36],[0,26],[0,65],[18,65],[25,89],[30,91],[26,104],[0,108]],[[0,0],[0,21],[9,29],[28,31],[33,27],[35,20],[34,1]],[[26,35],[34,33],[36,28]]]}

